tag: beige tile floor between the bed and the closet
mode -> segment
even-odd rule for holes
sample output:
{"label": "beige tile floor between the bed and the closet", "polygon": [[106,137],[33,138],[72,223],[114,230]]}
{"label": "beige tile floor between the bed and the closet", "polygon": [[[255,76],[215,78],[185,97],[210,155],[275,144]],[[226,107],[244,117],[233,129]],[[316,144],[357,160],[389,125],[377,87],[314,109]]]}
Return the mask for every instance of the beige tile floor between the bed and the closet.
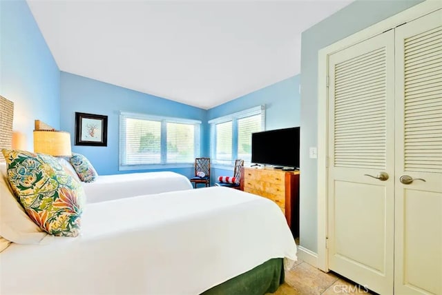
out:
{"label": "beige tile floor between the bed and the closet", "polygon": [[[297,261],[285,272],[285,283],[273,295],[348,295],[374,294],[364,287],[329,272],[325,273],[304,261]],[[269,295],[269,294],[267,294]]]}

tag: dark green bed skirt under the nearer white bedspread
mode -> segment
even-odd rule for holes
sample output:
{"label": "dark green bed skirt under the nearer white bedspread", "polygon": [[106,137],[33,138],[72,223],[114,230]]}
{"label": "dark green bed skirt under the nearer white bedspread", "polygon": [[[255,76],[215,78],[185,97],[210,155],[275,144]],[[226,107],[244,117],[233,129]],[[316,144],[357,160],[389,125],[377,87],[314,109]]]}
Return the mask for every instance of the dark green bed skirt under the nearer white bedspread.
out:
{"label": "dark green bed skirt under the nearer white bedspread", "polygon": [[273,258],[229,281],[206,290],[202,295],[264,295],[276,292],[284,283],[282,258]]}

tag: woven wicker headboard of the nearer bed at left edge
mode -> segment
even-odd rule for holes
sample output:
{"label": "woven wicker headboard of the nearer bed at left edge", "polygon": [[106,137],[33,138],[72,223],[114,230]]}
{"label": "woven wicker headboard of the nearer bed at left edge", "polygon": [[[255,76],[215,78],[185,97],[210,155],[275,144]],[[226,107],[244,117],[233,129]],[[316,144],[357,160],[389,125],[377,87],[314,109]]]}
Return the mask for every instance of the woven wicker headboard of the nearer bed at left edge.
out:
{"label": "woven wicker headboard of the nearer bed at left edge", "polygon": [[[14,103],[0,96],[0,150],[12,146],[12,120],[14,119]],[[4,162],[0,156],[0,162]]]}

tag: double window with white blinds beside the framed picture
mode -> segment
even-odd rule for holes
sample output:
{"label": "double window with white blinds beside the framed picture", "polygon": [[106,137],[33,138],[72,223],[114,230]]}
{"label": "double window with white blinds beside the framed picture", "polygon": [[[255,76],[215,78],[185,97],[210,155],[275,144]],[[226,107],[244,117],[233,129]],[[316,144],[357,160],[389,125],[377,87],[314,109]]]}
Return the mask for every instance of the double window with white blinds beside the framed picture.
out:
{"label": "double window with white blinds beside the framed picture", "polygon": [[200,121],[121,112],[120,170],[193,164],[200,154]]}

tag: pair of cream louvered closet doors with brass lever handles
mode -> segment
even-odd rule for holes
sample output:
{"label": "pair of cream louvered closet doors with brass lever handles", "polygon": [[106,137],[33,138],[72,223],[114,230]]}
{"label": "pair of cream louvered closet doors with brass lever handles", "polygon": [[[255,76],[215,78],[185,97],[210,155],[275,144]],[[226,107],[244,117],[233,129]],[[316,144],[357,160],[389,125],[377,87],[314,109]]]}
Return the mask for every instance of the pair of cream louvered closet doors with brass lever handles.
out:
{"label": "pair of cream louvered closet doors with brass lever handles", "polygon": [[329,55],[329,269],[442,294],[442,10]]}

